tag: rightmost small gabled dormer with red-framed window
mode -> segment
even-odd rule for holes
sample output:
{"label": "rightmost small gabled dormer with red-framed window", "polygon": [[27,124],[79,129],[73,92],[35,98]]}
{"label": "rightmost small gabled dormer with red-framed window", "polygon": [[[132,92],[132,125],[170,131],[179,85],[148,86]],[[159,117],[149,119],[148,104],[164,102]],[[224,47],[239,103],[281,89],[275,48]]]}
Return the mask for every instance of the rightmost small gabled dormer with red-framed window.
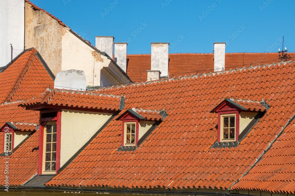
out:
{"label": "rightmost small gabled dormer with red-framed window", "polygon": [[[268,110],[269,105],[264,100],[258,102],[242,99],[225,99],[219,103],[211,113],[218,113],[218,140],[217,142],[237,142],[245,136],[251,126]],[[256,117],[256,118],[255,118]],[[254,121],[253,121],[254,120]],[[246,130],[247,129],[247,130]]]}

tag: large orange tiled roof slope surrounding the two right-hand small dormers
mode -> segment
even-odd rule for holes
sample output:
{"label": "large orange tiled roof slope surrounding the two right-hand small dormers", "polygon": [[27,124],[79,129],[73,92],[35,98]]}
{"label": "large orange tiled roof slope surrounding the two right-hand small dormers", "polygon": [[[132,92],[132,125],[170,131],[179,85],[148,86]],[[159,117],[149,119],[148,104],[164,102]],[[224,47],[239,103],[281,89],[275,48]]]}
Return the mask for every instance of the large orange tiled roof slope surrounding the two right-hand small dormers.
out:
{"label": "large orange tiled roof slope surrounding the two right-hand small dormers", "polygon": [[[135,151],[126,152],[117,151],[122,125],[112,120],[46,185],[230,188],[295,114],[294,72],[295,62],[279,63],[100,89],[124,94],[125,108],[165,108],[168,116]],[[236,148],[210,148],[217,141],[218,116],[209,111],[224,98],[264,98],[270,109]]]}

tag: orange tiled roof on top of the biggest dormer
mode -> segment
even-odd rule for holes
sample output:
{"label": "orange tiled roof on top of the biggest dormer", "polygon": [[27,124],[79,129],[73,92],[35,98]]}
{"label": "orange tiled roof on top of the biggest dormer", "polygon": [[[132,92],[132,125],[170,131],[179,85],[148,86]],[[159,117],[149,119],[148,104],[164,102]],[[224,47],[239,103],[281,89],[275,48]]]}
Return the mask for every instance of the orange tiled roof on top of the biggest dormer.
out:
{"label": "orange tiled roof on top of the biggest dormer", "polygon": [[83,91],[67,91],[47,88],[37,97],[19,104],[22,107],[48,104],[76,108],[93,108],[102,110],[119,110],[120,96]]}

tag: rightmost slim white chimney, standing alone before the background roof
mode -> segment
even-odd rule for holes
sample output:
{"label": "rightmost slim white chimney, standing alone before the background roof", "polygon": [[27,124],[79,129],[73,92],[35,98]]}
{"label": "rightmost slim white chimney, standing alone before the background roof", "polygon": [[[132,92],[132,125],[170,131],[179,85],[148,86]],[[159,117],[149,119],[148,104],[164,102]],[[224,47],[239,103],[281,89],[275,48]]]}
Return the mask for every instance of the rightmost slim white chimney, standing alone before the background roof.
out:
{"label": "rightmost slim white chimney, standing alone before the background roof", "polygon": [[214,71],[224,70],[225,43],[214,43]]}

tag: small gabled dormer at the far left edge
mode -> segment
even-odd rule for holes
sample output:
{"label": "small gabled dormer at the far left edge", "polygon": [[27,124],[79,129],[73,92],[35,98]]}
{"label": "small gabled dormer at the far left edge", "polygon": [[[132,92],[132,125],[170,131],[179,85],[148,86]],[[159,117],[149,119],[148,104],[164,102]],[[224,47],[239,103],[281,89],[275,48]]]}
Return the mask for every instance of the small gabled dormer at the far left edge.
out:
{"label": "small gabled dormer at the far left edge", "polygon": [[22,144],[36,130],[37,124],[33,123],[5,123],[0,129],[0,132],[3,134],[2,153],[12,153],[17,146]]}

